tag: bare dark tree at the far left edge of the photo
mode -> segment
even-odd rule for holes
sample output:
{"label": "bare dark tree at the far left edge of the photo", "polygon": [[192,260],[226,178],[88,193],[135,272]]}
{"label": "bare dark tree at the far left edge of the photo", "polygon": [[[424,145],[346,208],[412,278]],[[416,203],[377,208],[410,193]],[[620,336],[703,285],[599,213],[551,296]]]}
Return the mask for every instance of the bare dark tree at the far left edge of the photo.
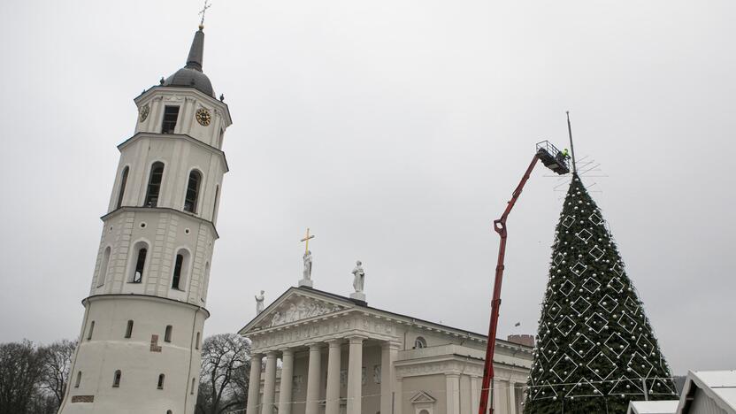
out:
{"label": "bare dark tree at the far left edge of the photo", "polygon": [[42,358],[31,341],[0,344],[0,414],[28,412],[41,374]]}

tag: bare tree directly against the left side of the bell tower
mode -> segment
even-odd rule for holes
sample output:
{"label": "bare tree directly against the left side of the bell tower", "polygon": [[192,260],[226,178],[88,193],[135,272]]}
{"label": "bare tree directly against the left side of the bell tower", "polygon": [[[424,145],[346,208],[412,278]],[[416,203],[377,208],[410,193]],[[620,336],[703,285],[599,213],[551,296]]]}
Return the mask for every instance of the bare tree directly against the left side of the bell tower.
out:
{"label": "bare tree directly against the left side of the bell tower", "polygon": [[43,366],[40,386],[54,396],[57,408],[64,399],[76,346],[75,341],[61,340],[38,349]]}

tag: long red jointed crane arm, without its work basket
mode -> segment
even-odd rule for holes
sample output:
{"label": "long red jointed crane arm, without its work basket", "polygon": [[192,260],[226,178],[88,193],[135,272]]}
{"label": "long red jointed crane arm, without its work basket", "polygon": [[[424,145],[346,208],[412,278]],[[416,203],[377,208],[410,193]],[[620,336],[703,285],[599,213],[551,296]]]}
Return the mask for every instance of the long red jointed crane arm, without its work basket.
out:
{"label": "long red jointed crane arm, without its work basket", "polygon": [[[501,219],[494,220],[494,230],[501,236],[501,244],[498,247],[498,262],[495,266],[495,282],[494,282],[494,296],[491,301],[491,322],[488,326],[488,345],[486,348],[486,366],[483,370],[483,385],[480,387],[480,404],[478,408],[479,414],[486,414],[488,412],[488,392],[493,390],[494,381],[494,350],[495,350],[495,331],[498,327],[498,309],[501,307],[501,281],[503,279],[503,260],[506,256],[506,219],[509,217],[511,209],[514,208],[514,204],[517,203],[518,196],[521,195],[521,191],[524,189],[526,181],[529,180],[529,176],[532,174],[534,166],[537,165],[540,157],[538,154],[534,154],[532,162],[529,167],[526,168],[526,173],[521,181],[518,183],[517,188],[511,195],[511,200],[506,206],[506,210],[503,211]],[[491,394],[491,407],[490,414],[493,414],[493,394]]]}

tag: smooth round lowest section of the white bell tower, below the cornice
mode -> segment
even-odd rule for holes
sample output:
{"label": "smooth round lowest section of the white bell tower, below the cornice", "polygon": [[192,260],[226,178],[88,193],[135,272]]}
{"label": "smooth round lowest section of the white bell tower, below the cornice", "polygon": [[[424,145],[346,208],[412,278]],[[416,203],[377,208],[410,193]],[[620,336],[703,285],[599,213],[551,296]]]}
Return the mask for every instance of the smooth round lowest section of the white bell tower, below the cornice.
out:
{"label": "smooth round lowest section of the white bell tower, below the cornice", "polygon": [[59,414],[192,414],[209,312],[146,295],[96,295],[83,303]]}

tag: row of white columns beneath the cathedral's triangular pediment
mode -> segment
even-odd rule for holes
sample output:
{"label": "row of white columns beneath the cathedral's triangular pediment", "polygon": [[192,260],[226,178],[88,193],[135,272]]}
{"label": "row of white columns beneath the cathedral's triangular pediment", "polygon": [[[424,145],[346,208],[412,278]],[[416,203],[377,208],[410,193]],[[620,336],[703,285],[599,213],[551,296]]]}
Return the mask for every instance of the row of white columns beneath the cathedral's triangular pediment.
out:
{"label": "row of white columns beneath the cathedral's triangular pediment", "polygon": [[[305,414],[318,414],[320,395],[326,388],[325,414],[340,413],[340,372],[341,351],[343,344],[348,345],[348,414],[360,414],[363,400],[363,347],[364,336],[350,336],[347,341],[331,339],[327,341],[307,344],[309,349],[309,364],[307,369],[307,389]],[[322,349],[327,349],[327,381],[322,384],[321,366]],[[300,349],[303,349],[301,347]],[[380,409],[381,412],[391,412],[392,391],[395,383],[394,362],[399,346],[394,342],[381,342],[381,385]],[[295,349],[269,350],[265,353],[251,355],[250,384],[248,390],[247,414],[272,414],[274,405],[278,406],[279,414],[291,414],[292,406],[292,377],[294,375]],[[281,381],[279,401],[275,401],[276,394],[276,361],[281,357]],[[265,357],[265,375],[263,398],[259,400],[260,381],[263,358]]]}

